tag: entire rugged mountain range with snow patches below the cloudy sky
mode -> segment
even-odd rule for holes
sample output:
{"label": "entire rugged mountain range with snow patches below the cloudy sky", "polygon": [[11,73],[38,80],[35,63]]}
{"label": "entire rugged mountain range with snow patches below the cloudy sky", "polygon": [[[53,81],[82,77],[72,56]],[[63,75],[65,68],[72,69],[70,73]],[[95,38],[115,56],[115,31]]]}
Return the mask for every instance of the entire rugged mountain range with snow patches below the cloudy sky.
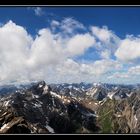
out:
{"label": "entire rugged mountain range with snow patches below the cloudy sky", "polygon": [[140,133],[140,85],[0,87],[0,133]]}

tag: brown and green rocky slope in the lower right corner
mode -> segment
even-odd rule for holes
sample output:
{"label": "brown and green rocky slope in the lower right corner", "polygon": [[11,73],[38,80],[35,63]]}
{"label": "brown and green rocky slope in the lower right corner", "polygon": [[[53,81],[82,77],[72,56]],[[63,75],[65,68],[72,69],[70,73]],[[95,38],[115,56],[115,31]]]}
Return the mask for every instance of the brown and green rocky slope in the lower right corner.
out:
{"label": "brown and green rocky slope in the lower right corner", "polygon": [[100,133],[140,133],[140,94],[108,99],[98,108]]}

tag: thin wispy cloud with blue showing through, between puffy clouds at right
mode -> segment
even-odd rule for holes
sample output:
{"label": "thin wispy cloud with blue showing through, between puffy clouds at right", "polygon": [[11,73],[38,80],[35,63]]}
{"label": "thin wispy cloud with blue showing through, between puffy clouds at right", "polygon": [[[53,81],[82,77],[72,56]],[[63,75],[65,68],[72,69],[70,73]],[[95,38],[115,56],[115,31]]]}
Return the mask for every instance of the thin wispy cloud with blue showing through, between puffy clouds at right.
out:
{"label": "thin wispy cloud with blue showing through, between puffy clouds at right", "polygon": [[118,49],[120,38],[107,28],[107,26],[91,26],[90,30],[96,38],[96,49],[103,59],[110,59]]}

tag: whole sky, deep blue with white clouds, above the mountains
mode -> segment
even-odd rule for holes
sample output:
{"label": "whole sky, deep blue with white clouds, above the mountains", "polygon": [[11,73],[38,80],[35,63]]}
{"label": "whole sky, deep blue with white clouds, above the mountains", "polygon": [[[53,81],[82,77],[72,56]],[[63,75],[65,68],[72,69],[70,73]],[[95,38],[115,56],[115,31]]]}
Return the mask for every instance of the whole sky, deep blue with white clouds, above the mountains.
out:
{"label": "whole sky, deep blue with white clouds, above the mountains", "polygon": [[[140,82],[140,7],[1,7],[0,23],[0,41],[4,44],[0,46],[0,55],[4,57],[0,60],[3,83]],[[15,54],[14,51],[8,53],[8,49],[3,49],[8,44],[3,41],[7,32],[17,46],[13,45],[13,50],[23,55],[22,66],[15,61],[15,55],[9,59],[8,55]],[[17,32],[15,41],[12,34]],[[24,52],[27,48],[23,46],[29,50]],[[15,67],[19,67],[18,78]]]}

